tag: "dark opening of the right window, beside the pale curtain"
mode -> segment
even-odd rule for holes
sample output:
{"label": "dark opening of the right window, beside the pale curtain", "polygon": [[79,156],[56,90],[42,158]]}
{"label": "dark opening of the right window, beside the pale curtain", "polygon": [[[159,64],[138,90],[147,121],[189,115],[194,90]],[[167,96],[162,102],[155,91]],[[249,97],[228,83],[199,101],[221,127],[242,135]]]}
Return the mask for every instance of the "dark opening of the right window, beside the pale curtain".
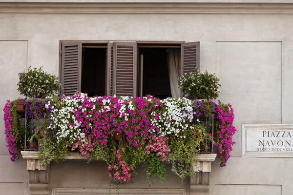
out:
{"label": "dark opening of the right window, beside the pale curtain", "polygon": [[171,97],[167,48],[140,48],[139,96]]}

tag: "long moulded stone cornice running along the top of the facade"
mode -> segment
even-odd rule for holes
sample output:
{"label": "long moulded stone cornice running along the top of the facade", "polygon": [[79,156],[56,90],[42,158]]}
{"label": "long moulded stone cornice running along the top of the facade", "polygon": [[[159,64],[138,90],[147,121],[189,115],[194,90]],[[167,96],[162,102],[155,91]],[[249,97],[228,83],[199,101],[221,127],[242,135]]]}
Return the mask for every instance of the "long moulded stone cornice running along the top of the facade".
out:
{"label": "long moulded stone cornice running along the top of the facade", "polygon": [[[0,2],[0,14],[293,14],[293,3]],[[267,1],[267,0],[266,0]]]}

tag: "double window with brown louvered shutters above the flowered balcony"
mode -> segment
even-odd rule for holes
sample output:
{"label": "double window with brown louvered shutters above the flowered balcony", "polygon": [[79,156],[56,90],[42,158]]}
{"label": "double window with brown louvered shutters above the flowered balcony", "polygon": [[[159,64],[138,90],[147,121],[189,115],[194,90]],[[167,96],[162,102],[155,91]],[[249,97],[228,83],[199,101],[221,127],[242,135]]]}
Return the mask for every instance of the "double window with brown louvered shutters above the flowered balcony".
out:
{"label": "double window with brown louvered shutters above the flowered balcony", "polygon": [[199,68],[199,42],[62,41],[61,93],[178,97],[178,78]]}

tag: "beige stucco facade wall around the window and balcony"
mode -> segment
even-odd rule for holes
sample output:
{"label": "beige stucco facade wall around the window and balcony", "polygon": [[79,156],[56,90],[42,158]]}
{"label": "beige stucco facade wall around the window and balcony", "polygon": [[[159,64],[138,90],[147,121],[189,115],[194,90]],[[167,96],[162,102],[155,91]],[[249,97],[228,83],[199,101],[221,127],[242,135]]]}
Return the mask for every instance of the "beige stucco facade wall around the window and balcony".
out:
{"label": "beige stucco facade wall around the window and balcony", "polygon": [[[240,128],[242,123],[293,123],[292,21],[293,15],[260,14],[1,14],[0,118],[5,100],[19,96],[17,74],[27,66],[43,66],[58,75],[60,40],[200,41],[201,70],[221,79],[219,99],[233,105],[238,129],[227,167],[220,168],[219,161],[212,164],[210,195],[291,195],[293,160],[241,157]],[[26,162],[9,158],[1,133],[0,192],[28,195]],[[52,163],[50,169],[50,188],[108,188],[101,162]],[[173,178],[153,187],[188,189],[188,180],[180,186]],[[137,187],[147,187],[143,175],[127,185]]]}

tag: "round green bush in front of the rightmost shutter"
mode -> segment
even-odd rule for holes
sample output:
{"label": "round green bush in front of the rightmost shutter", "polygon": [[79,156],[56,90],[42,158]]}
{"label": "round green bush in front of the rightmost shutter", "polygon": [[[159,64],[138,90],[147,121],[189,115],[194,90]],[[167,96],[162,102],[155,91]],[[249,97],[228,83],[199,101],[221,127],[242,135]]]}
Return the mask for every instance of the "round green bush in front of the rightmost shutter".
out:
{"label": "round green bush in front of the rightmost shutter", "polygon": [[219,97],[219,78],[208,71],[200,73],[196,69],[195,73],[185,74],[180,77],[179,88],[185,97],[192,96],[193,99],[215,99]]}

